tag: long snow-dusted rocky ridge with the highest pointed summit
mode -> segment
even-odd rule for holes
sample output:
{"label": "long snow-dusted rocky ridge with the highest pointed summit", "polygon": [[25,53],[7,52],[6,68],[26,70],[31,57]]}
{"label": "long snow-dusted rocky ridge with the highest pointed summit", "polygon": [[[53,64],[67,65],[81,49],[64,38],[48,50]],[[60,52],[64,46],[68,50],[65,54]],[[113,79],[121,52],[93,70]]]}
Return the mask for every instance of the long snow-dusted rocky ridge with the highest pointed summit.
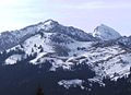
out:
{"label": "long snow-dusted rocky ridge with the highest pointed summit", "polygon": [[20,31],[3,32],[0,35],[0,51],[12,48],[15,45],[21,44],[31,36],[45,32],[64,34],[75,40],[95,40],[92,35],[72,26],[63,26],[56,21],[47,20],[35,25],[24,27]]}

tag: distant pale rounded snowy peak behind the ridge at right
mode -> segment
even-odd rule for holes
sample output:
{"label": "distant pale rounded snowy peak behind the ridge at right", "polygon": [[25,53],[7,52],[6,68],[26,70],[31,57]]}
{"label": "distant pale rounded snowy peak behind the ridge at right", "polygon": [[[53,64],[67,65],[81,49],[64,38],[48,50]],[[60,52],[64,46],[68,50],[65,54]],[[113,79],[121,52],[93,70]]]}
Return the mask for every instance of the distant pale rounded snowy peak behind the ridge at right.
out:
{"label": "distant pale rounded snowy peak behind the ridge at right", "polygon": [[98,37],[103,40],[117,39],[121,37],[121,35],[118,32],[104,24],[100,24],[94,29],[93,36]]}

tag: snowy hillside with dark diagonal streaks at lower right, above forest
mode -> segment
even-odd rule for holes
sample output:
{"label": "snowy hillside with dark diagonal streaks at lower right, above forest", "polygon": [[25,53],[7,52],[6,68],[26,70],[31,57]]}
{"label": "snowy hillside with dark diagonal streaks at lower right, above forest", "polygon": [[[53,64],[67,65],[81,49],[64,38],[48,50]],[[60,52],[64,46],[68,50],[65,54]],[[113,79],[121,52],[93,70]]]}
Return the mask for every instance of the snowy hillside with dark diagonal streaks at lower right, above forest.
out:
{"label": "snowy hillside with dark diagonal streaks at lower right, above forest", "polygon": [[78,63],[87,63],[96,72],[94,79],[109,76],[115,80],[128,74],[131,67],[131,54],[119,46],[93,48],[68,61],[76,59],[79,59]]}

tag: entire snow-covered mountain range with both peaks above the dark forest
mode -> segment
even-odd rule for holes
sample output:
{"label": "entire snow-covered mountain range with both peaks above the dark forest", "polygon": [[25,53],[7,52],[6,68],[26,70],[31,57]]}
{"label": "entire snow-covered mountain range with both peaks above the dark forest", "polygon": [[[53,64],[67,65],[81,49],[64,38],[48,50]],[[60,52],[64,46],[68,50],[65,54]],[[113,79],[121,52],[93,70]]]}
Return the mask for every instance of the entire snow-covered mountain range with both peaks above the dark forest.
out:
{"label": "entire snow-covered mountain range with both peaks above the dark forest", "polygon": [[[23,63],[24,60],[39,66],[39,69],[44,63],[51,63],[48,71],[85,70],[84,76],[88,76],[85,72],[91,70],[95,75],[86,80],[103,84],[104,78],[117,80],[130,73],[130,36],[122,37],[106,25],[96,27],[92,36],[75,27],[48,20],[20,31],[1,33],[0,61],[5,67],[21,61]],[[67,88],[71,85],[84,88],[83,82],[82,78],[74,76],[59,80],[58,84]]]}

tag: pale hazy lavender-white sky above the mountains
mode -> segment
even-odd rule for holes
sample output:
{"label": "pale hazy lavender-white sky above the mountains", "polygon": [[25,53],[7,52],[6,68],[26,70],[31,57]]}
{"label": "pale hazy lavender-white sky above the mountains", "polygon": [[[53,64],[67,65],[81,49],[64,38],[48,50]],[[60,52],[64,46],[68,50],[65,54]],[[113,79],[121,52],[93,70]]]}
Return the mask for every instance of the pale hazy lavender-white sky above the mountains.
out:
{"label": "pale hazy lavender-white sky above the mountains", "polygon": [[131,0],[0,0],[0,32],[48,19],[85,32],[103,23],[131,35]]}

